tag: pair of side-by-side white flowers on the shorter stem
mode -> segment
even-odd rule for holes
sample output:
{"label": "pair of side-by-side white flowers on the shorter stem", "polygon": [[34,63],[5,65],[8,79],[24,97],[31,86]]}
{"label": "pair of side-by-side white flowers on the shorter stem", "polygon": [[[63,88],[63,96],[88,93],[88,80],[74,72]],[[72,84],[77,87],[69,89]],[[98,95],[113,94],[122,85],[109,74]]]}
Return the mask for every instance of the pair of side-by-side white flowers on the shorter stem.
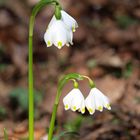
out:
{"label": "pair of side-by-side white flowers on the shorter stem", "polygon": [[97,88],[92,88],[89,95],[84,99],[83,94],[78,88],[72,89],[63,99],[65,110],[78,110],[82,114],[85,108],[92,115],[95,110],[103,111],[103,107],[111,110],[109,99]]}

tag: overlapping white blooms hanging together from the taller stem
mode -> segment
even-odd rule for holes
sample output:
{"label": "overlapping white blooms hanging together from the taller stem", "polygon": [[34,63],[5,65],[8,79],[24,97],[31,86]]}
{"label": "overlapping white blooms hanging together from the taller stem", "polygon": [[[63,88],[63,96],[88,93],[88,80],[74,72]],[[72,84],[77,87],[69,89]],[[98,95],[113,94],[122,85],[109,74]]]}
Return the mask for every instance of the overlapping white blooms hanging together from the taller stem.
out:
{"label": "overlapping white blooms hanging together from the taller stem", "polygon": [[47,47],[54,44],[57,48],[61,49],[65,44],[67,46],[73,44],[73,32],[75,32],[78,24],[76,20],[65,11],[61,10],[60,13],[60,19],[56,19],[55,15],[52,17],[44,35]]}

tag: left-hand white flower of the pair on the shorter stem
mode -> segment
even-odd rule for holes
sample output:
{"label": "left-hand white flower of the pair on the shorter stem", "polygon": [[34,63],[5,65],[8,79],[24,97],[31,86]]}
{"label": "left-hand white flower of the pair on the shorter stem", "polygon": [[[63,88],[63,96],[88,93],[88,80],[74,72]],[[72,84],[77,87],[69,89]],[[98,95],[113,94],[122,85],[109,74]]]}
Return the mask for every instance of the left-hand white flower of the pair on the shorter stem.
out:
{"label": "left-hand white flower of the pair on the shorter stem", "polygon": [[78,88],[72,89],[63,99],[65,110],[71,109],[72,111],[79,110],[85,113],[84,96]]}

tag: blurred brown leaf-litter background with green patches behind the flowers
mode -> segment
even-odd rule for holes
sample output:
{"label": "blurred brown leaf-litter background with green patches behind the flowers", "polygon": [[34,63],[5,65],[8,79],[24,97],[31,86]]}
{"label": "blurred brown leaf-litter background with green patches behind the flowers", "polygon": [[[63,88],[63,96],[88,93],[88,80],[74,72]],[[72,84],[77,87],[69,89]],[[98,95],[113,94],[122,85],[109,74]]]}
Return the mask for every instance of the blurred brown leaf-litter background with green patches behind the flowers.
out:
{"label": "blurred brown leaf-litter background with green patches behind the flowers", "polygon": [[[26,140],[28,132],[28,24],[38,0],[0,0],[0,139]],[[59,78],[71,72],[90,76],[111,100],[112,110],[64,111],[60,101],[55,138],[140,139],[140,1],[61,0],[79,28],[74,45],[46,48],[43,36],[54,9],[44,8],[34,30],[35,140],[45,136]],[[63,97],[71,89],[68,83]],[[85,96],[88,82],[80,82]]]}

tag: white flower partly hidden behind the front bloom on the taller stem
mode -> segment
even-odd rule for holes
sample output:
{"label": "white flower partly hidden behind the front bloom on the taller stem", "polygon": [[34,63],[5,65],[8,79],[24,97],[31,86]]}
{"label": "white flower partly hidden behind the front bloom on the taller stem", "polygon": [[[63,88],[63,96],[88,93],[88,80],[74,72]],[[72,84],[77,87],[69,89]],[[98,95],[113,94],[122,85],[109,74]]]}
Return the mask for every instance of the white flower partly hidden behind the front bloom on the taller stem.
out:
{"label": "white flower partly hidden behind the front bloom on the taller stem", "polygon": [[[70,16],[68,13],[66,13],[64,10],[61,10],[61,16],[62,16],[61,20],[65,23],[67,29],[75,32],[76,28],[78,28],[77,21],[72,16]],[[53,24],[53,22],[55,22],[55,21],[56,21],[56,18],[55,18],[55,16],[53,16],[48,27],[50,27]]]}

